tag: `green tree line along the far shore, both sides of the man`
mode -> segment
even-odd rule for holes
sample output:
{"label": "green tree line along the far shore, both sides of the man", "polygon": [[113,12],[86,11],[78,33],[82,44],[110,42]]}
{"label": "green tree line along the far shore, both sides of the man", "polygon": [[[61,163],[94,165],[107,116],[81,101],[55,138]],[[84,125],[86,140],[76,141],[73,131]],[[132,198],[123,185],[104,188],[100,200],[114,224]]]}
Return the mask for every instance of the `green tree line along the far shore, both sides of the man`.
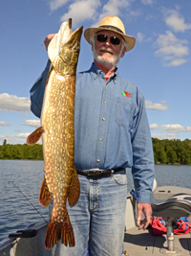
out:
{"label": "green tree line along the far shore, both sides of the man", "polygon": [[[156,164],[191,165],[191,140],[159,140],[152,138]],[[43,160],[42,145],[7,144],[0,145],[0,159]]]}

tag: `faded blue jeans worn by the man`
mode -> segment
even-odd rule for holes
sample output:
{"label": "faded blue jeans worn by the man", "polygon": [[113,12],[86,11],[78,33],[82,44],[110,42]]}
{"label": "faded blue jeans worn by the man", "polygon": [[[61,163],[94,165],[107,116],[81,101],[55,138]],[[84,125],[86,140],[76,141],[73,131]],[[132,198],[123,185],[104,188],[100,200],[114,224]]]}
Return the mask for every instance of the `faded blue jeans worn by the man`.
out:
{"label": "faded blue jeans worn by the man", "polygon": [[125,171],[89,178],[78,175],[80,197],[73,208],[67,204],[74,229],[75,246],[58,242],[53,256],[119,256],[125,227],[127,178]]}

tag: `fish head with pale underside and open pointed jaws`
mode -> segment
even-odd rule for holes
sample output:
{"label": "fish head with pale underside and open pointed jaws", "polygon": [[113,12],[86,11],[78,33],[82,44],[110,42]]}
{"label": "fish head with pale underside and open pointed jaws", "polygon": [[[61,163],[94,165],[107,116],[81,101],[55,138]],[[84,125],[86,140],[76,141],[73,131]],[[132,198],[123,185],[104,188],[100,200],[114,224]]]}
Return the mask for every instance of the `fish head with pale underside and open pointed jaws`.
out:
{"label": "fish head with pale underside and open pointed jaws", "polygon": [[48,54],[56,72],[72,75],[76,71],[83,27],[72,32],[72,19],[63,22],[49,45]]}

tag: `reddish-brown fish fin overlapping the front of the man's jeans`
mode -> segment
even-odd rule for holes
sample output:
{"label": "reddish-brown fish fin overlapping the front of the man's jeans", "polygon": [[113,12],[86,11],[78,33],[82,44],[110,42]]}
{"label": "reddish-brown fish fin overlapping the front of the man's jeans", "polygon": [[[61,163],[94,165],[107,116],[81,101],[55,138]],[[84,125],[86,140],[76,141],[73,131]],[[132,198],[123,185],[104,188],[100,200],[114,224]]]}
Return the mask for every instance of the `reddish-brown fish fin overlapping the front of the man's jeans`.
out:
{"label": "reddish-brown fish fin overlapping the front of the man's jeans", "polygon": [[76,170],[74,170],[74,175],[71,180],[71,185],[68,192],[68,201],[71,207],[75,205],[80,195],[80,186],[79,186],[79,180],[76,173]]}

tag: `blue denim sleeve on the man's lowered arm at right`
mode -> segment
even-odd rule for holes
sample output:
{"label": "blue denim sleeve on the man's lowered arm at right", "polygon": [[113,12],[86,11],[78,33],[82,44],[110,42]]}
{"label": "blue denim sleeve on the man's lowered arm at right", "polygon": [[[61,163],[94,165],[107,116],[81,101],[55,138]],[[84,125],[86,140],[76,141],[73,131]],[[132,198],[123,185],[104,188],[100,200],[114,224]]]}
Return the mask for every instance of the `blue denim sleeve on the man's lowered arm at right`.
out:
{"label": "blue denim sleeve on the man's lowered arm at right", "polygon": [[133,166],[138,202],[151,202],[155,164],[152,139],[148,124],[144,97],[138,97],[138,110],[135,113],[132,131]]}

